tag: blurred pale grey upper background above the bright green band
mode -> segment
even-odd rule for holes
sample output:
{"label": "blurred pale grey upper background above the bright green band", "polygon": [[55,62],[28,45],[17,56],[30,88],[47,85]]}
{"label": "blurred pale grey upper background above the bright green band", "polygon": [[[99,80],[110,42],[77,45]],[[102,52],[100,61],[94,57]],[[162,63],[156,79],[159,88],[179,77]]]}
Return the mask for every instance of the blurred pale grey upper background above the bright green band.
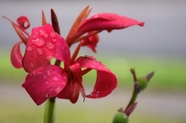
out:
{"label": "blurred pale grey upper background above the bright green band", "polygon": [[[16,21],[18,16],[26,15],[31,27],[34,27],[41,25],[42,10],[50,22],[50,8],[53,8],[58,15],[61,34],[66,37],[73,21],[87,5],[92,8],[90,15],[113,12],[145,22],[144,27],[134,26],[110,34],[101,33],[98,53],[186,59],[185,0],[7,0],[0,1],[0,16],[5,15]],[[1,18],[0,50],[10,50],[18,40],[11,24]]]}

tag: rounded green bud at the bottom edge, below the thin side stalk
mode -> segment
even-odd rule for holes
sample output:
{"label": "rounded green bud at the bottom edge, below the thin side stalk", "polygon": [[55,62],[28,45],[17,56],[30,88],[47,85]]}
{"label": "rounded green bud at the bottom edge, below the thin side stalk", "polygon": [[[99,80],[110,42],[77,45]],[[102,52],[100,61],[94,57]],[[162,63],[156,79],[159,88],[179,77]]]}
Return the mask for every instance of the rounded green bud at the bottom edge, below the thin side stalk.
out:
{"label": "rounded green bud at the bottom edge, below the thin side stalk", "polygon": [[128,116],[123,112],[118,112],[112,121],[112,123],[128,123]]}

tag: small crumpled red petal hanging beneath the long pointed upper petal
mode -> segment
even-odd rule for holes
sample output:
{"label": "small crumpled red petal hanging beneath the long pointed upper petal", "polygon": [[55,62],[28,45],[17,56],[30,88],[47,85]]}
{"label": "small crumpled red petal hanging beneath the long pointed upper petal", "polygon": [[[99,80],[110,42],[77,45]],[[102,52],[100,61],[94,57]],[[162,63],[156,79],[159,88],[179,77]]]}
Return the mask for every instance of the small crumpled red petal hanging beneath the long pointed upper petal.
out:
{"label": "small crumpled red petal hanging beneath the long pointed upper petal", "polygon": [[[91,34],[92,32],[89,32]],[[99,36],[98,34],[95,34],[93,36],[90,36],[84,40],[81,41],[81,46],[87,46],[89,47],[93,52],[96,53],[96,46],[99,41]]]}

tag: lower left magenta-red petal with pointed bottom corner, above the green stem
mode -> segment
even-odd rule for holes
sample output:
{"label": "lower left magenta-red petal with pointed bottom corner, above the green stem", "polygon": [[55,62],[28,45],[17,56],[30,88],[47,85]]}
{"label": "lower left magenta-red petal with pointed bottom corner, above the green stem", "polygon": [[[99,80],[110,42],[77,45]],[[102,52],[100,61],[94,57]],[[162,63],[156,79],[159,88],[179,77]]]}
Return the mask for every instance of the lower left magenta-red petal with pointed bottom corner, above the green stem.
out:
{"label": "lower left magenta-red petal with pointed bottom corner, above the green stem", "polygon": [[67,83],[66,72],[53,65],[40,67],[29,73],[23,87],[37,105],[46,101],[47,97],[57,96]]}

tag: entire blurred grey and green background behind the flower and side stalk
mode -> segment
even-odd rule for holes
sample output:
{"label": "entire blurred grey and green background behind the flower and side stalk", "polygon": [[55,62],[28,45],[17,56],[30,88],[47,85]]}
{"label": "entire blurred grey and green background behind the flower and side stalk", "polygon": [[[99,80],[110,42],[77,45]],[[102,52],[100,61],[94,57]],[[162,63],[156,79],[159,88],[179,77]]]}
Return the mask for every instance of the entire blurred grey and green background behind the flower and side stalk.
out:
{"label": "entire blurred grey and green background behind the flower and side stalk", "polygon": [[[91,15],[115,12],[145,21],[145,26],[101,33],[97,54],[82,48],[80,55],[94,55],[116,74],[118,87],[103,99],[83,102],[80,97],[76,104],[57,100],[56,123],[111,123],[117,109],[125,108],[132,94],[130,68],[135,68],[138,76],[155,71],[148,88],[137,99],[138,106],[130,123],[185,123],[186,15],[182,13],[186,11],[186,1],[1,1],[0,15],[12,20],[27,15],[34,27],[41,23],[41,10],[50,20],[49,10],[54,8],[65,37],[86,5],[93,8]],[[34,104],[21,87],[27,73],[13,68],[9,60],[11,47],[19,38],[6,20],[0,19],[0,27],[0,123],[41,123],[44,104]],[[94,71],[84,77],[87,93],[94,82]]]}

